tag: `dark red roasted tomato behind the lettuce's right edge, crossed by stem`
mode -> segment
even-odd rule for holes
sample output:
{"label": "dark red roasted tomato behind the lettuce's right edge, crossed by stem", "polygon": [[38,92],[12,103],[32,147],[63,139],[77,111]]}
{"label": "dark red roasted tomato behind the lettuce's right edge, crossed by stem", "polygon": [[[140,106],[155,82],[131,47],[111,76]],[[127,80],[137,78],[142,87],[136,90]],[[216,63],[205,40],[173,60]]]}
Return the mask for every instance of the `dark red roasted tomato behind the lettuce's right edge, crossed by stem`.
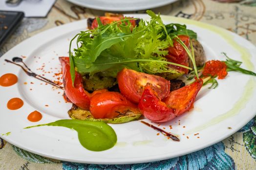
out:
{"label": "dark red roasted tomato behind the lettuce's right edge, crossed by stem", "polygon": [[[190,46],[190,37],[187,35],[178,35],[179,39],[181,41],[184,42],[184,44],[189,47]],[[177,40],[173,40],[173,47],[169,47],[168,48],[168,55],[166,55],[165,57],[167,58],[168,61],[172,62],[172,63],[177,63],[177,64],[181,64],[183,66],[189,66],[189,56],[187,51],[182,47],[182,45],[177,41]],[[178,66],[172,66],[170,65],[172,68],[175,68],[179,71],[182,71],[184,73],[188,73],[188,69],[187,68],[181,68]]]}

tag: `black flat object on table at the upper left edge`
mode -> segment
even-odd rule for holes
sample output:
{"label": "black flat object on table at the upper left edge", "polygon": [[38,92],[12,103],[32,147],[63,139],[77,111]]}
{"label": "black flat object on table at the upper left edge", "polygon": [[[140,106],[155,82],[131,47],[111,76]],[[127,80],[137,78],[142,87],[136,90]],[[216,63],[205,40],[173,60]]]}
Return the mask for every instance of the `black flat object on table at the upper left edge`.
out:
{"label": "black flat object on table at the upper left edge", "polygon": [[4,41],[17,29],[24,17],[23,12],[0,11],[0,47]]}

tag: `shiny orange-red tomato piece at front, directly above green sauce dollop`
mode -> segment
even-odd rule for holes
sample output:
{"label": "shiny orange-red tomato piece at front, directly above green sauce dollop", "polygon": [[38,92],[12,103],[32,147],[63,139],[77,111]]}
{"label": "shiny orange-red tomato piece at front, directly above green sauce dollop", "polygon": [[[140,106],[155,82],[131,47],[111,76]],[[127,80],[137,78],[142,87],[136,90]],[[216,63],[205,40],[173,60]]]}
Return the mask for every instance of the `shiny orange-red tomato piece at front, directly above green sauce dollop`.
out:
{"label": "shiny orange-red tomato piece at front, directly above green sauce dollop", "polygon": [[128,110],[139,112],[135,104],[118,92],[98,93],[90,101],[90,112],[95,119],[115,118]]}

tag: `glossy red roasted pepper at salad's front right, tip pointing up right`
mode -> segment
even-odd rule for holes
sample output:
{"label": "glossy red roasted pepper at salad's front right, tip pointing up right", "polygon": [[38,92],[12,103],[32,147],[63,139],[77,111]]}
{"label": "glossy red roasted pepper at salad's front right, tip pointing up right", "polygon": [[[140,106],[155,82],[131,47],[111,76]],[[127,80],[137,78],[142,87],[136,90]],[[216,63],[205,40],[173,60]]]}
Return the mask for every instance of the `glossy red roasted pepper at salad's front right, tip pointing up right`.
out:
{"label": "glossy red roasted pepper at salad's front right, tip pointing up right", "polygon": [[138,107],[149,120],[155,122],[169,121],[193,107],[195,97],[202,85],[203,82],[197,80],[191,85],[172,91],[162,102],[152,86],[147,84]]}

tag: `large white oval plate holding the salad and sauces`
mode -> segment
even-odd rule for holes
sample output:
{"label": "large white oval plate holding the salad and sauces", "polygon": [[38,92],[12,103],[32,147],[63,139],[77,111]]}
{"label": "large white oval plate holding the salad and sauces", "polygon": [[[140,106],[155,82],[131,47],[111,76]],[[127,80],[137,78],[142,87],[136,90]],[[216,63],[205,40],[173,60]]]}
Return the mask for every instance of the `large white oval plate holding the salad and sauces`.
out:
{"label": "large white oval plate holding the salad and sauces", "polygon": [[[149,19],[145,15],[133,17]],[[231,58],[243,61],[243,68],[255,71],[256,47],[242,37],[193,20],[167,16],[162,18],[165,23],[185,23],[197,32],[208,60],[224,60],[221,52],[226,52]],[[81,20],[47,30],[23,41],[0,58],[0,75],[14,73],[19,77],[16,85],[0,86],[0,134],[11,132],[9,136],[0,137],[26,151],[65,161],[140,163],[168,159],[213,145],[235,133],[255,116],[256,77],[229,72],[224,80],[218,80],[219,86],[216,89],[204,88],[200,91],[194,109],[159,126],[178,135],[180,142],[167,139],[161,134],[158,136],[156,131],[140,121],[111,124],[117,134],[117,144],[103,152],[91,152],[83,148],[76,131],[68,128],[42,126],[23,129],[58,119],[69,119],[67,110],[71,104],[64,102],[61,90],[51,85],[40,85],[42,82],[27,76],[19,67],[6,63],[4,59],[23,55],[26,56],[24,62],[35,72],[42,73],[37,68],[41,68],[43,63],[45,71],[57,72],[61,69],[58,56],[67,56],[70,39],[85,29],[86,20]],[[46,78],[54,79],[53,73],[44,74]],[[14,97],[21,98],[24,105],[19,110],[8,110],[6,103]],[[46,104],[49,106],[46,107]],[[27,120],[28,114],[34,110],[43,114],[41,121],[33,123]],[[196,133],[199,135],[194,136]]]}

